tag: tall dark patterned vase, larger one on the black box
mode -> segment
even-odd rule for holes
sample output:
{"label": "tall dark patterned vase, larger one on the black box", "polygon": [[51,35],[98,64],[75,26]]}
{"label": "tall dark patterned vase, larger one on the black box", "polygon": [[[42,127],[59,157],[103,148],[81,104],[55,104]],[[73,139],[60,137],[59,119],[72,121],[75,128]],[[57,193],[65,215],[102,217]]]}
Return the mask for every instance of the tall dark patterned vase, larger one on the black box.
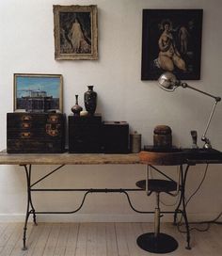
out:
{"label": "tall dark patterned vase, larger one on the black box", "polygon": [[84,93],[84,103],[89,115],[93,116],[96,111],[97,93],[93,90],[93,86],[88,86]]}

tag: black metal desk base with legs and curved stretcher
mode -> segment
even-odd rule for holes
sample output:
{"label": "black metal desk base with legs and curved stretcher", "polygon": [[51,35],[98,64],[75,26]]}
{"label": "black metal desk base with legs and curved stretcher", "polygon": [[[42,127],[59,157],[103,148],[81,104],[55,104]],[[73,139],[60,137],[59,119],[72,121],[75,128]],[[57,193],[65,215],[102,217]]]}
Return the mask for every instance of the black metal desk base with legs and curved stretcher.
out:
{"label": "black metal desk base with legs and curved stretcher", "polygon": [[[47,177],[49,177],[50,175],[52,175],[53,173],[55,173],[57,170],[59,170],[60,168],[63,168],[65,165],[61,165],[55,169],[53,169],[52,171],[50,171],[49,173],[47,173],[46,175],[42,176],[39,180],[37,180],[36,182],[32,183],[31,181],[31,174],[32,174],[32,165],[21,165],[22,167],[24,167],[25,170],[25,175],[26,175],[26,184],[27,184],[27,206],[26,206],[26,214],[25,214],[25,220],[24,220],[24,237],[23,237],[23,241],[24,241],[24,247],[23,249],[26,249],[26,230],[27,230],[27,222],[28,222],[28,218],[30,215],[33,215],[33,221],[34,224],[37,225],[37,215],[42,215],[42,214],[60,214],[60,215],[65,215],[65,214],[74,214],[76,212],[78,212],[84,205],[84,202],[87,198],[87,195],[89,193],[122,193],[126,196],[129,205],[131,207],[131,209],[133,211],[135,211],[136,213],[139,214],[154,214],[154,211],[141,211],[141,210],[137,210],[135,209],[135,206],[132,203],[132,200],[130,199],[130,195],[128,192],[134,192],[134,191],[144,191],[141,188],[34,188],[34,186],[36,184],[39,184],[41,181],[43,181],[44,179],[46,179]],[[152,167],[153,168],[153,167]],[[176,207],[175,211],[163,211],[161,212],[161,214],[174,214],[174,224],[176,224],[176,220],[177,220],[177,215],[178,214],[182,214],[182,217],[184,218],[185,221],[185,227],[186,227],[186,233],[187,233],[187,237],[186,237],[186,241],[187,241],[187,247],[186,248],[190,248],[190,233],[189,233],[189,225],[188,225],[188,219],[186,216],[186,211],[185,211],[185,201],[184,201],[184,187],[185,187],[185,181],[186,181],[186,176],[187,176],[187,171],[188,171],[189,166],[187,166],[187,168],[185,169],[184,175],[183,173],[181,173],[182,177],[181,177],[181,181],[182,184],[180,186],[180,200],[179,203]],[[32,202],[32,192],[41,192],[41,191],[53,191],[53,192],[85,192],[85,194],[83,195],[83,199],[80,202],[79,206],[72,210],[72,211],[36,211],[34,204]],[[182,207],[182,210],[181,210]]]}

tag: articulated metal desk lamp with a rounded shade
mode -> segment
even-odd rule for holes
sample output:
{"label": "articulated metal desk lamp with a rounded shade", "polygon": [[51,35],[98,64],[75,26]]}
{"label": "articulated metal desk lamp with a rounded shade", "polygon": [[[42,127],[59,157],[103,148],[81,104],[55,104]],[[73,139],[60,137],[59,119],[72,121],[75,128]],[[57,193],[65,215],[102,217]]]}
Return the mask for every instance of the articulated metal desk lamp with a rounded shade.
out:
{"label": "articulated metal desk lamp with a rounded shade", "polygon": [[215,106],[218,102],[221,101],[221,98],[217,97],[217,96],[214,96],[210,93],[207,93],[205,91],[202,91],[198,88],[193,88],[193,87],[188,86],[186,83],[183,83],[182,81],[178,80],[172,72],[163,73],[158,79],[158,84],[159,84],[160,88],[163,88],[163,89],[165,89],[169,92],[172,92],[176,88],[179,88],[179,87],[192,88],[192,89],[194,89],[194,90],[196,90],[196,91],[198,91],[198,92],[200,92],[200,93],[202,93],[206,96],[214,98],[214,105],[213,105],[213,108],[212,108],[212,112],[211,112],[210,117],[207,121],[207,125],[206,125],[206,128],[204,130],[204,133],[201,136],[201,140],[204,142],[203,148],[204,149],[211,149],[212,145],[211,145],[211,142],[210,142],[209,138],[206,137],[206,134],[207,134],[208,128],[210,126],[211,120],[213,118],[213,115],[214,115]]}

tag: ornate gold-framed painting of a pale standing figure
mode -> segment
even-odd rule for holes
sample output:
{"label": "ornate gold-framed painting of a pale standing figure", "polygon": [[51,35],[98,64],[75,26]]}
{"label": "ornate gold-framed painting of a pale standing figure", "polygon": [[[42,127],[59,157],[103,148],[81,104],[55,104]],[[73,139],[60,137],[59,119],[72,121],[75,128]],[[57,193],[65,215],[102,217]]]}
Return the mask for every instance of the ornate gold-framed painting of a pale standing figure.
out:
{"label": "ornate gold-framed painting of a pale standing figure", "polygon": [[54,6],[56,59],[98,59],[97,6]]}

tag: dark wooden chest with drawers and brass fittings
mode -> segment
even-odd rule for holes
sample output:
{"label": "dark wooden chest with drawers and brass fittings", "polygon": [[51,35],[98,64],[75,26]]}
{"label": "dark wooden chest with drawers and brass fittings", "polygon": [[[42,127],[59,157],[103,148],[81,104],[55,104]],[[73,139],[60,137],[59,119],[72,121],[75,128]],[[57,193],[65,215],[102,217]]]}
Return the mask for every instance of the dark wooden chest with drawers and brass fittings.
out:
{"label": "dark wooden chest with drawers and brass fittings", "polygon": [[7,152],[64,152],[65,122],[60,113],[8,113]]}

